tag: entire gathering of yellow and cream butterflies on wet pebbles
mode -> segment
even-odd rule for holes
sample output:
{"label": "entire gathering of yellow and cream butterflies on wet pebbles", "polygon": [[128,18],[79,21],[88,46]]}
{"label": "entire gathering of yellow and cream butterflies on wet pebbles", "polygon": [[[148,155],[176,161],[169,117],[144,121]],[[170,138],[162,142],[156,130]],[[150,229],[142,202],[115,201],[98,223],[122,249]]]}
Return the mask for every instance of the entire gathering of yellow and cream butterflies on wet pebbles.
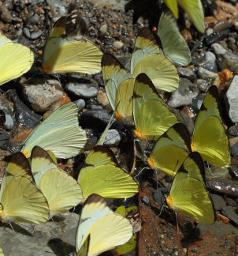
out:
{"label": "entire gathering of yellow and cream butterflies on wet pebbles", "polygon": [[[190,2],[178,1],[203,32],[204,26],[199,21],[203,17],[202,6],[199,0]],[[157,140],[147,163],[173,177],[166,198],[169,207],[212,224],[215,216],[206,190],[203,160],[218,166],[229,165],[229,141],[221,122],[216,87],[210,87],[206,93],[192,140],[186,126],[158,94],[158,91],[177,89],[179,75],[175,65],[186,66],[191,62],[188,45],[177,28],[177,1],[165,3],[173,13],[162,14],[158,36],[147,28],[139,31],[130,73],[117,58],[109,54],[102,56],[94,43],[85,40],[87,26],[76,12],[54,24],[44,47],[42,70],[92,74],[102,69],[106,93],[117,119],[133,124],[139,139]],[[194,10],[189,11],[186,6]],[[0,55],[1,51],[9,52],[3,66],[0,64],[2,68],[13,64],[13,54],[18,54],[19,61],[10,71],[1,73],[0,85],[27,72],[34,62],[28,47],[13,43],[2,34]],[[88,153],[77,180],[58,168],[57,158],[76,156],[84,149],[86,140],[74,103],[59,107],[41,122],[6,168],[0,190],[0,219],[43,223],[84,203],[76,233],[78,255],[98,255],[128,242],[133,234],[132,224],[124,216],[113,213],[103,198],[128,198],[138,193],[139,187],[132,175],[120,168],[113,153],[102,145],[95,146]],[[102,227],[106,232],[102,232]]]}

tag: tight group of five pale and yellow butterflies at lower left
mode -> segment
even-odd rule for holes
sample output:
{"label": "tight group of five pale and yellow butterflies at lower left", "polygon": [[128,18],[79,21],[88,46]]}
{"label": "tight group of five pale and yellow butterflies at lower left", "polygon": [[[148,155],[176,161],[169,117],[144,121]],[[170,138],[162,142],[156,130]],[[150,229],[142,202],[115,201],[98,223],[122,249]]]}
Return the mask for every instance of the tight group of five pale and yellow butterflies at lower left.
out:
{"label": "tight group of five pale and yellow butterflies at lower left", "polygon": [[[130,221],[113,213],[103,198],[132,197],[139,186],[103,145],[87,154],[77,180],[58,168],[57,158],[76,156],[84,148],[86,136],[77,115],[74,103],[59,107],[23,141],[21,152],[13,154],[2,179],[0,220],[39,224],[84,203],[76,249],[84,255],[80,250],[90,234],[87,254],[98,255],[133,235]],[[108,228],[99,238],[102,225]],[[99,242],[102,236],[103,245]]]}

